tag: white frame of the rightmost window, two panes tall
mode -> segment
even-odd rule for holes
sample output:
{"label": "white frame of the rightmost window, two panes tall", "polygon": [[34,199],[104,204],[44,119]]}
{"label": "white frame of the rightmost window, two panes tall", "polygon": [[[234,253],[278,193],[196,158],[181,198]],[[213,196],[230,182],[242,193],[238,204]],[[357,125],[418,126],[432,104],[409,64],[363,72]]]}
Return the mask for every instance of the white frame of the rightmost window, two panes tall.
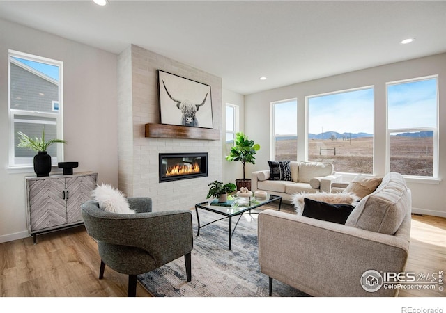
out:
{"label": "white frame of the rightmost window, two panes tall", "polygon": [[[389,128],[389,86],[400,85],[403,83],[414,83],[417,81],[427,81],[431,79],[436,79],[436,126],[435,127],[409,127],[409,128]],[[429,75],[425,77],[415,77],[412,79],[401,79],[398,81],[389,81],[385,83],[385,110],[386,110],[386,148],[385,148],[385,172],[390,172],[390,134],[392,133],[403,133],[403,132],[412,132],[412,131],[433,131],[433,168],[432,168],[432,176],[417,176],[417,175],[403,175],[408,180],[420,181],[420,180],[438,180],[438,166],[439,166],[439,134],[438,134],[438,125],[439,125],[439,90],[438,90],[438,74]]]}

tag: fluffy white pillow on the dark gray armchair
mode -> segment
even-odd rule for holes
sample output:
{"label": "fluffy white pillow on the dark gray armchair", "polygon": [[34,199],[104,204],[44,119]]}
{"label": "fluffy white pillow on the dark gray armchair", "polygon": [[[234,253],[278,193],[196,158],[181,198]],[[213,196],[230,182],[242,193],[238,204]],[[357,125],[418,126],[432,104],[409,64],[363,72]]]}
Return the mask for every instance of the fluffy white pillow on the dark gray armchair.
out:
{"label": "fluffy white pillow on the dark gray armchair", "polygon": [[102,186],[96,186],[91,195],[93,200],[99,203],[100,209],[107,212],[119,213],[119,214],[134,214],[136,213],[128,204],[125,195],[113,188],[109,184],[102,184]]}

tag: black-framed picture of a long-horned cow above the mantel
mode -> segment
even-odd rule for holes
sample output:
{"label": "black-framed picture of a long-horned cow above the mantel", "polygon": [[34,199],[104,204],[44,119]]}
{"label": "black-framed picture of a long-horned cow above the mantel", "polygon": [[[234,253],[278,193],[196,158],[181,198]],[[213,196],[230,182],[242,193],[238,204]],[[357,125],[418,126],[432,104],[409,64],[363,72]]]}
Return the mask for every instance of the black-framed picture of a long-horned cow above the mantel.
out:
{"label": "black-framed picture of a long-horned cow above the mantel", "polygon": [[161,124],[213,128],[210,86],[157,70]]}

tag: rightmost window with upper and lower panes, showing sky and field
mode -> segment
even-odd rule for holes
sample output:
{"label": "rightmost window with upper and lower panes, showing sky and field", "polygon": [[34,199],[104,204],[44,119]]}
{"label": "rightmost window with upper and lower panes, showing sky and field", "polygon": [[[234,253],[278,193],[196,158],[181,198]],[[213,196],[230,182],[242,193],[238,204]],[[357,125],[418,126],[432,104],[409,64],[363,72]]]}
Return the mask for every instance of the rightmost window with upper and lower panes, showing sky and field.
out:
{"label": "rightmost window with upper and lower panes, showing sky and field", "polygon": [[438,177],[437,90],[437,77],[387,83],[387,170]]}

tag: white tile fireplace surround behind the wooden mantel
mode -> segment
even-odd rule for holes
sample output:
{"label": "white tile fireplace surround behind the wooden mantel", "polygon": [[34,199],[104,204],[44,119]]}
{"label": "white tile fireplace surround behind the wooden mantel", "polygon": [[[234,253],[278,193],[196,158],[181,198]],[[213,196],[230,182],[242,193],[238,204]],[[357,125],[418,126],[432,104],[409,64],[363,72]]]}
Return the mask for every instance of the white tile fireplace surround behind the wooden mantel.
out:
{"label": "white tile fireplace surround behind the wooden mantel", "polygon": [[[222,80],[197,68],[131,45],[118,56],[119,189],[148,196],[154,211],[191,209],[205,200],[208,184],[222,179],[222,141],[146,138],[144,125],[159,123],[157,70],[211,86],[213,127],[222,129]],[[160,182],[162,154],[208,154],[208,176]]]}

